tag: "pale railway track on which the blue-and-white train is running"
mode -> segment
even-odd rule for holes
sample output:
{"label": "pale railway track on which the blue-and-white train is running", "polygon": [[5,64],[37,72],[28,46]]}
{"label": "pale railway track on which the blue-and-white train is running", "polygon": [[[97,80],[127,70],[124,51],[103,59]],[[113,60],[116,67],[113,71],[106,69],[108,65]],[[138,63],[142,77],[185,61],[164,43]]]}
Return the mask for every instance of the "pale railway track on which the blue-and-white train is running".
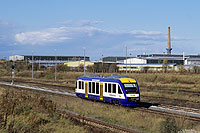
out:
{"label": "pale railway track on which the blue-and-white train is running", "polygon": [[[31,90],[37,90],[37,91],[43,91],[58,95],[66,95],[66,96],[73,96],[75,97],[75,94],[65,91],[59,91],[55,90],[54,88],[47,88],[47,87],[37,87],[37,86],[26,86],[26,85],[11,85],[7,82],[0,82],[1,85],[6,86],[12,86],[17,88],[24,88],[24,89],[31,89]],[[185,119],[189,119],[192,121],[198,121],[200,122],[200,110],[194,109],[194,108],[187,108],[187,107],[179,107],[179,106],[171,106],[171,105],[152,105],[150,103],[144,103],[141,104],[139,108],[134,108],[138,111],[144,111],[149,113],[155,113],[160,115],[167,115],[167,116],[174,116],[174,117],[184,117]]]}

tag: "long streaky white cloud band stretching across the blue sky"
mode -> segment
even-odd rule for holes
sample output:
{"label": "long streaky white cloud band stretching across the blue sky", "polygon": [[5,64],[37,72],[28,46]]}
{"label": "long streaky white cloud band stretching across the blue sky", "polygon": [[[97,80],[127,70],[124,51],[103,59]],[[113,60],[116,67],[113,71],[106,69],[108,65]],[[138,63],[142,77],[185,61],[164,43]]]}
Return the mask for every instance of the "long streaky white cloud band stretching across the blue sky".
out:
{"label": "long streaky white cloud band stretching across the blue sky", "polygon": [[[58,27],[18,33],[15,35],[15,40],[18,44],[31,45],[66,43],[69,41],[106,46],[113,43],[115,45],[152,45],[167,41],[167,35],[158,31],[104,30],[95,27]],[[180,38],[173,38],[173,40],[180,40]]]}

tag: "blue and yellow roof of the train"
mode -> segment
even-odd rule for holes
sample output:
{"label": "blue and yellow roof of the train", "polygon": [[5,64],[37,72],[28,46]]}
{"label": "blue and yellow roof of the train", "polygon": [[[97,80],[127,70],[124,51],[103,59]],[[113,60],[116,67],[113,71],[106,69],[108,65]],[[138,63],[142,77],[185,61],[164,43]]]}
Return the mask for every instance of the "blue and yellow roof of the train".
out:
{"label": "blue and yellow roof of the train", "polygon": [[96,82],[122,82],[122,83],[136,83],[135,79],[129,78],[127,75],[117,75],[112,74],[108,77],[103,77],[101,75],[91,74],[91,75],[83,75],[78,79],[96,81]]}

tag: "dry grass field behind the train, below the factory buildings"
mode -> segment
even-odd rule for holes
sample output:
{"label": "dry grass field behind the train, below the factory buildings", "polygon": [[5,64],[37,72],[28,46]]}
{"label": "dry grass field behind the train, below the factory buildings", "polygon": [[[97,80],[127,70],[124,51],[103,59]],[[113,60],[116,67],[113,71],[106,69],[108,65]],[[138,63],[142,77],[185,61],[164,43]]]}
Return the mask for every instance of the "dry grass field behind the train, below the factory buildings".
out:
{"label": "dry grass field behind the train, below the factory buildings", "polygon": [[[92,74],[92,73],[87,73]],[[108,76],[110,73],[100,73]],[[57,81],[54,81],[54,73],[51,71],[36,71],[34,80],[31,78],[31,71],[21,71],[16,73],[16,80],[44,83],[48,85],[62,85],[74,87],[76,79],[82,76],[82,72],[58,72]],[[189,100],[199,102],[200,95],[182,93],[179,90],[200,91],[200,75],[191,73],[128,73],[129,77],[137,79],[141,94],[144,96],[163,97],[170,99]],[[1,77],[2,78],[2,77]],[[4,76],[10,79],[9,76]],[[163,93],[163,91],[164,93]],[[171,91],[174,91],[172,94]],[[150,101],[151,102],[151,101]]]}

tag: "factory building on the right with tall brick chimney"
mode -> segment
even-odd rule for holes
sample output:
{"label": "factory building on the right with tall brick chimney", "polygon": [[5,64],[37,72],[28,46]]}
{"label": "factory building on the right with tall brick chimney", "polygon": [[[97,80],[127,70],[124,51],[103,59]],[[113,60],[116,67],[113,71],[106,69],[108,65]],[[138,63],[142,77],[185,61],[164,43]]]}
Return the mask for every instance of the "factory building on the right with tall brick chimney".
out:
{"label": "factory building on the right with tall brick chimney", "polygon": [[170,27],[168,27],[168,47],[167,54],[143,54],[134,58],[128,58],[123,63],[118,64],[119,71],[141,71],[141,70],[178,70],[184,67],[189,70],[194,66],[200,67],[200,55],[177,55],[172,54],[170,41]]}

